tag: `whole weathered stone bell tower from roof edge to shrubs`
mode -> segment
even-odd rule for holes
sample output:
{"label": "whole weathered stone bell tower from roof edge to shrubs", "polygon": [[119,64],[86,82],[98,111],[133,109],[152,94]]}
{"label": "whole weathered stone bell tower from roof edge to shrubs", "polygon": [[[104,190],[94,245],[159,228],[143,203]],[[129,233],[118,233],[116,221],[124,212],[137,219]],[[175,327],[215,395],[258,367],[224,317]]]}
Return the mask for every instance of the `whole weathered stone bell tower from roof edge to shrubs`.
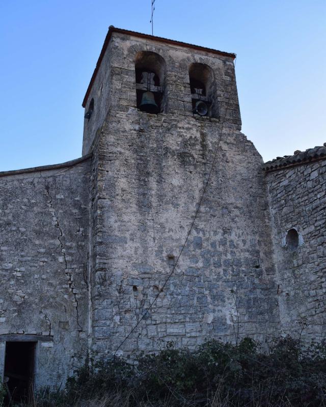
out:
{"label": "whole weathered stone bell tower from roof edge to shrubs", "polygon": [[273,331],[262,160],[240,132],[234,58],[108,31],[83,102],[83,154],[93,153],[90,338],[99,356],[231,338],[234,321],[240,335]]}

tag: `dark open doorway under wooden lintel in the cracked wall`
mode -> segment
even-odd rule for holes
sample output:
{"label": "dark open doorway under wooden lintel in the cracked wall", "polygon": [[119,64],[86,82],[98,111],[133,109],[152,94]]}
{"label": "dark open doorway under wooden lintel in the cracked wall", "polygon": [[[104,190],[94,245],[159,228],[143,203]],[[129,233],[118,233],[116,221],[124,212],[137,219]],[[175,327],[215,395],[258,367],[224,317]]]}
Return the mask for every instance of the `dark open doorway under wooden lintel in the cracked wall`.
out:
{"label": "dark open doorway under wooden lintel in the cracked wall", "polygon": [[33,395],[37,342],[6,342],[5,378],[11,400],[29,402]]}

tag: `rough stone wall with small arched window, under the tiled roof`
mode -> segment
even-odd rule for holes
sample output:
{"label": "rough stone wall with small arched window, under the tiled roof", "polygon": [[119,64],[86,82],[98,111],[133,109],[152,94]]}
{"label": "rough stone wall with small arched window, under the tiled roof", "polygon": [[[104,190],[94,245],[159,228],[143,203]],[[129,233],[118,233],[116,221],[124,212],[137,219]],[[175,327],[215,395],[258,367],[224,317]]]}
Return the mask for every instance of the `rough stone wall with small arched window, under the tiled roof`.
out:
{"label": "rough stone wall with small arched window, under the tiled roof", "polygon": [[[326,334],[326,160],[266,172],[273,219],[281,328],[320,340]],[[299,245],[286,244],[295,228]]]}

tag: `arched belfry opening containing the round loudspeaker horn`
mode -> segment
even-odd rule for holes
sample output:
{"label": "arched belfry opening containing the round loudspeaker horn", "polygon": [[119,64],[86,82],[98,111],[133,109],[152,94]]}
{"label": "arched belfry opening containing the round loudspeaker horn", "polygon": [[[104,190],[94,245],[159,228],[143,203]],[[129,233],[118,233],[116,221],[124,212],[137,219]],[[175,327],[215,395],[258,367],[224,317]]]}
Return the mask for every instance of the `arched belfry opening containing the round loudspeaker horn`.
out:
{"label": "arched belfry opening containing the round loudspeaker horn", "polygon": [[189,66],[189,84],[192,94],[193,112],[219,119],[219,106],[213,70],[206,64]]}

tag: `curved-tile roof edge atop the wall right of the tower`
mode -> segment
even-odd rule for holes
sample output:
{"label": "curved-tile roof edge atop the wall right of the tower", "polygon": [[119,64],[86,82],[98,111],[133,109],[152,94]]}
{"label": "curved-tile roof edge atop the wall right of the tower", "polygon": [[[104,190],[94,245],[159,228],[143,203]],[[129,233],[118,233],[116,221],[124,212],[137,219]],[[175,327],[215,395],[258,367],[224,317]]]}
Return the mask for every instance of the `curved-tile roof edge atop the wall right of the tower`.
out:
{"label": "curved-tile roof edge atop the wall right of the tower", "polygon": [[304,164],[321,158],[326,158],[326,143],[323,146],[317,146],[306,151],[296,150],[293,156],[276,157],[274,160],[265,162],[263,169],[271,171],[292,165]]}

